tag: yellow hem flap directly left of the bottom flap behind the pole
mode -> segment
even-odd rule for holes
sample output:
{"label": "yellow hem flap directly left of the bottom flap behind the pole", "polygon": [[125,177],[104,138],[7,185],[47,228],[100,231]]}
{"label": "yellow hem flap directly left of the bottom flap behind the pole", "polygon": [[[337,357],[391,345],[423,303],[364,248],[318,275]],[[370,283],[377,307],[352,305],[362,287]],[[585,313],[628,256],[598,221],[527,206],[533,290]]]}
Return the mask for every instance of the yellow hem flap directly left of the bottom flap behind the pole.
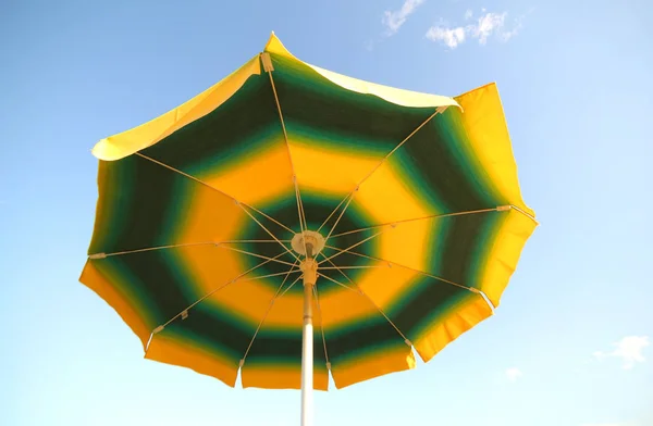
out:
{"label": "yellow hem flap directly left of the bottom flap behind the pole", "polygon": [[238,375],[237,361],[229,360],[200,348],[196,342],[178,336],[165,336],[163,330],[152,337],[145,358],[165,364],[194,369],[215,377],[232,388]]}

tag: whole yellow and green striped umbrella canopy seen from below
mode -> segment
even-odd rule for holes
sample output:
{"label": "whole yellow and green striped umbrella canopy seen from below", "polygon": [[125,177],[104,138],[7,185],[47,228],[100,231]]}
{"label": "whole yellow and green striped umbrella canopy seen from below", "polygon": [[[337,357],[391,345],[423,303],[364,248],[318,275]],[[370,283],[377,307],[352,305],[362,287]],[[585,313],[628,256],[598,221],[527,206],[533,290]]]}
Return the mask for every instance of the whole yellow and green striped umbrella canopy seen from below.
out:
{"label": "whole yellow and green striped umbrella canopy seen from below", "polygon": [[241,372],[244,387],[300,388],[305,324],[315,389],[329,372],[342,388],[412,368],[414,349],[431,360],[492,315],[537,226],[495,85],[374,85],[274,35],[94,154],[81,281],[147,359],[229,386]]}

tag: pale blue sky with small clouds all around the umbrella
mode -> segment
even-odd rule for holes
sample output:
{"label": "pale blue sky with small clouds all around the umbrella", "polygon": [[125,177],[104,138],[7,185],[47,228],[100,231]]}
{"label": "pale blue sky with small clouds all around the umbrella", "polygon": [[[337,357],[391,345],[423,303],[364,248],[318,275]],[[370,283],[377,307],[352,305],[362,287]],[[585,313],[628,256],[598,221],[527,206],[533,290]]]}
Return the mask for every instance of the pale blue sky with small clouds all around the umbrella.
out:
{"label": "pale blue sky with small clouds all around the umbrella", "polygon": [[494,317],[415,371],[318,393],[317,425],[653,424],[653,4],[403,1],[0,2],[1,424],[298,424],[298,392],[145,361],[77,283],[94,143],[220,80],[270,30],[375,83],[497,82],[541,222]]}

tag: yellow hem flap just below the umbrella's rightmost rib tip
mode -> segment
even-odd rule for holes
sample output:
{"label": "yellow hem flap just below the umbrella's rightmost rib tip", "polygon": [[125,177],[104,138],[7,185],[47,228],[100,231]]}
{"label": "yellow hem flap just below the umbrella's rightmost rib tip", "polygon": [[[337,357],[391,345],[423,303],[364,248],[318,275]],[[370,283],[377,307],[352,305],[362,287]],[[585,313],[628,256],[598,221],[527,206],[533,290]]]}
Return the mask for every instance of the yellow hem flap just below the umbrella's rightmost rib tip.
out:
{"label": "yellow hem flap just below the umbrella's rightmost rib tip", "polygon": [[526,241],[537,226],[534,221],[515,210],[508,212],[501,225],[480,277],[481,290],[495,308],[517,267]]}

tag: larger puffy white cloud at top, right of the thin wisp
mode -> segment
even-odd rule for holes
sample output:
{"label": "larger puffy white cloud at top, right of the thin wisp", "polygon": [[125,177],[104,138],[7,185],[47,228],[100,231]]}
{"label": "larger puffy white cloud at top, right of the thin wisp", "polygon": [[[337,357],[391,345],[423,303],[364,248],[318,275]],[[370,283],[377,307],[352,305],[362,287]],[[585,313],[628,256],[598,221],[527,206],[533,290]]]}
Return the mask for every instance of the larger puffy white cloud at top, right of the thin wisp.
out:
{"label": "larger puffy white cloud at top, right of the thin wisp", "polygon": [[465,21],[472,21],[467,25],[449,26],[445,22],[433,25],[427,30],[427,38],[441,42],[449,49],[455,49],[468,38],[473,38],[481,46],[485,45],[491,36],[496,36],[501,41],[508,41],[515,37],[522,26],[523,16],[518,17],[510,25],[507,24],[508,12],[495,13],[481,10],[481,15],[475,17],[473,11],[465,12]]}

